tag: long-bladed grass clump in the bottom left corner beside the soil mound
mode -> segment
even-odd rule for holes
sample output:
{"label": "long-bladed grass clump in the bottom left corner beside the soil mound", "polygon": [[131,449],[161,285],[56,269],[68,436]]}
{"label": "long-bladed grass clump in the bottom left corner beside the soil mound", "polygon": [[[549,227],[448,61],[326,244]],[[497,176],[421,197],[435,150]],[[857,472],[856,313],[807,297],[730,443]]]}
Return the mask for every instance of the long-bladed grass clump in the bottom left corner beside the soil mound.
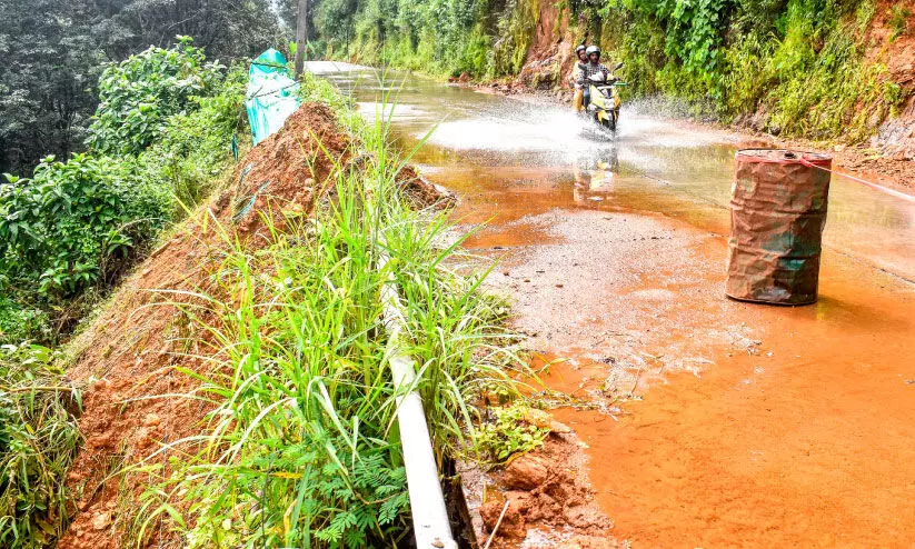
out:
{"label": "long-bladed grass clump in the bottom left corner beside the soil mound", "polygon": [[64,531],[79,406],[49,349],[0,347],[0,546],[48,547]]}

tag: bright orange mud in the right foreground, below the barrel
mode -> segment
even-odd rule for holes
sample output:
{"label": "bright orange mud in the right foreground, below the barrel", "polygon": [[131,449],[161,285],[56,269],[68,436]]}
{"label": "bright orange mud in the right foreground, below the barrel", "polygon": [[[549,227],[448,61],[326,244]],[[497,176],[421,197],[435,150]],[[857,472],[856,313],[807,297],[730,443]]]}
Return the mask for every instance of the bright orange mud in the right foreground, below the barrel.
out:
{"label": "bright orange mud in the right foreground, below the barrel", "polygon": [[557,411],[600,463],[591,481],[617,536],[650,547],[911,546],[915,296],[875,291],[867,270],[827,270],[863,280],[826,281],[814,307],[763,311],[757,353],[722,349],[700,377],[672,376],[623,406],[619,422]]}

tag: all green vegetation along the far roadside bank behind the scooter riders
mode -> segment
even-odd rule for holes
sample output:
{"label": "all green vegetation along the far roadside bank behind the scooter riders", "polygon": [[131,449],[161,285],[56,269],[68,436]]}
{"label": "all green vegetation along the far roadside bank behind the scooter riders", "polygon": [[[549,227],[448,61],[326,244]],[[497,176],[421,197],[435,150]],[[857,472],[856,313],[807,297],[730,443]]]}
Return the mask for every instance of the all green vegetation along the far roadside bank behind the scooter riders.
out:
{"label": "all green vegetation along the far roadside bank behind the scooter riders", "polygon": [[[328,54],[457,77],[519,73],[550,0],[319,0]],[[601,46],[636,97],[785,136],[861,141],[907,98],[866,58],[875,0],[560,0],[569,38]],[[882,4],[883,6],[883,4]],[[881,8],[886,9],[886,8]],[[888,8],[892,42],[908,8]],[[554,29],[556,39],[559,29]],[[558,86],[559,66],[546,80]],[[538,80],[538,83],[541,80]],[[757,114],[750,119],[753,114]]]}

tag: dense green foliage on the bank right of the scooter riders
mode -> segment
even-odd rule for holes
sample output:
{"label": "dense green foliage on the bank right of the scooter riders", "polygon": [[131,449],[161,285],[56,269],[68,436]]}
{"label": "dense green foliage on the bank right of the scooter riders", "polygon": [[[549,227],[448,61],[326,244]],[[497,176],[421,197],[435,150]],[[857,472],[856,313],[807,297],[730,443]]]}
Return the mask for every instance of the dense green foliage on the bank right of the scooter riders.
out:
{"label": "dense green foliage on the bank right of the scooter riders", "polygon": [[618,0],[591,11],[642,94],[775,133],[859,140],[904,97],[864,58],[873,0]]}

